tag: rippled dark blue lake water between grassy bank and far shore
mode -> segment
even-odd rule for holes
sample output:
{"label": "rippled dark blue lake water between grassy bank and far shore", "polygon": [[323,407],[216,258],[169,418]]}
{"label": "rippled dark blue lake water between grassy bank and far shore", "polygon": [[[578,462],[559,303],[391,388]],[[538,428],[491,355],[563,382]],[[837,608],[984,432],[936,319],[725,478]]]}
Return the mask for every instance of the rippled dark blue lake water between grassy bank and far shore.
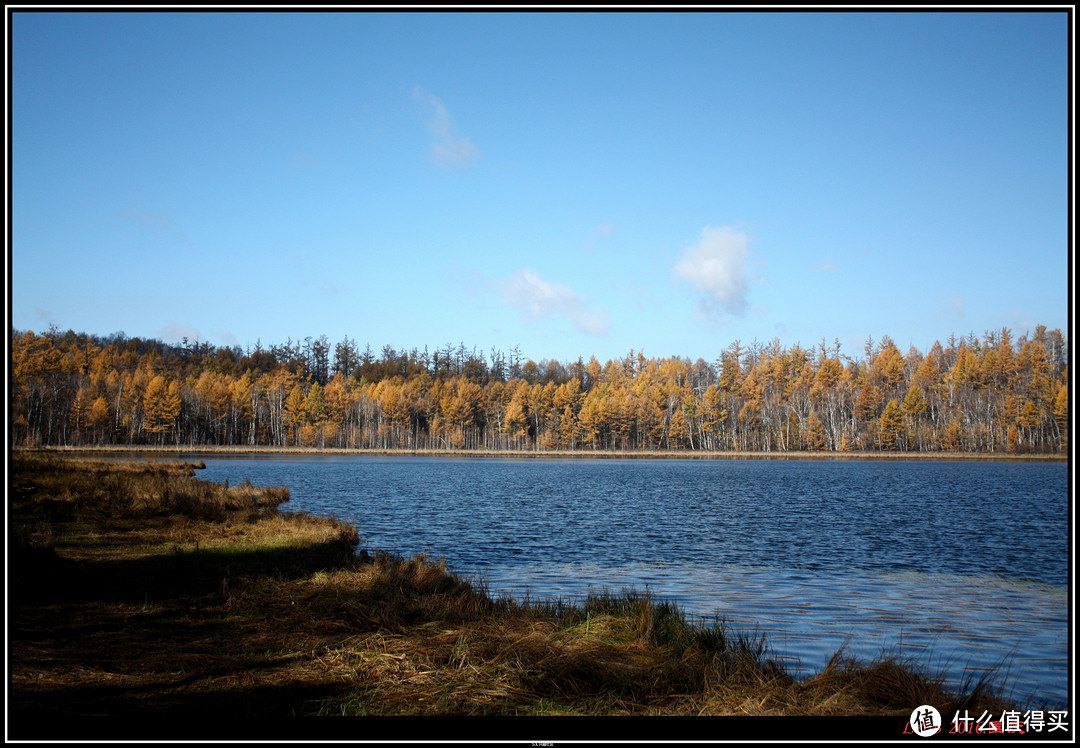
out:
{"label": "rippled dark blue lake water between grassy bank and far shore", "polygon": [[494,594],[633,587],[766,634],[795,675],[846,645],[1067,699],[1064,463],[202,459],[201,478],[286,485],[287,508]]}

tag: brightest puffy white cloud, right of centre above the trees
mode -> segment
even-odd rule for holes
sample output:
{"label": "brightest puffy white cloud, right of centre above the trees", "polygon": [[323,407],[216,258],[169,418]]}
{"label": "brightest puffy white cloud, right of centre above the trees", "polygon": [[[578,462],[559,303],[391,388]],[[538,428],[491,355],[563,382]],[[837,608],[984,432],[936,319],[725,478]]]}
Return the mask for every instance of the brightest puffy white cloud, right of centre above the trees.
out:
{"label": "brightest puffy white cloud, right of centre above the trees", "polygon": [[746,312],[746,256],[750,237],[726,226],[701,230],[701,240],[683,250],[672,270],[703,295],[702,312],[715,316],[720,310],[730,315]]}

